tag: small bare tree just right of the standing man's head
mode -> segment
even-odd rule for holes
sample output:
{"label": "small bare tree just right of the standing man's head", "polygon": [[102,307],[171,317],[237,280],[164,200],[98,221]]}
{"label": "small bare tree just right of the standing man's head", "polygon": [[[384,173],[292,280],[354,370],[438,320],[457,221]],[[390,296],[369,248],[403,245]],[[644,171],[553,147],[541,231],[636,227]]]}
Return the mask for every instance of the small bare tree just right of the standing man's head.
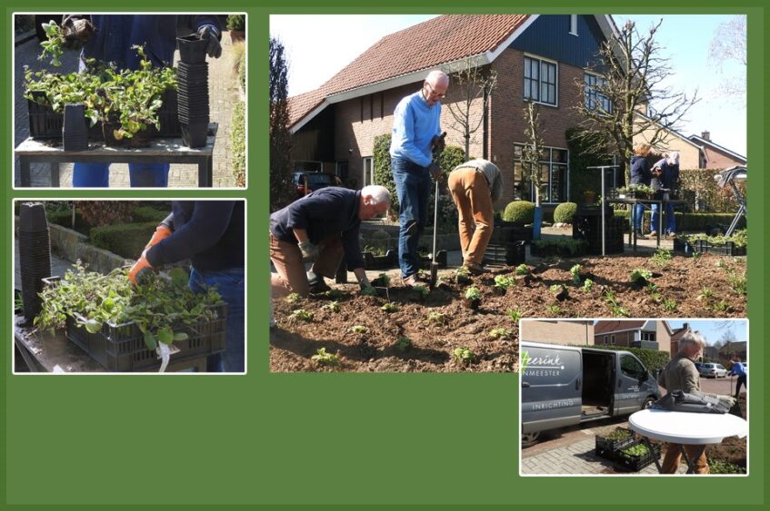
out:
{"label": "small bare tree just right of the standing man's head", "polygon": [[[462,135],[465,141],[465,160],[468,160],[471,142],[475,142],[474,133],[484,123],[489,96],[497,85],[497,73],[494,69],[480,66],[478,56],[469,56],[465,59],[465,67],[452,75],[452,81],[453,91],[460,91],[461,96],[458,101],[446,105],[454,119],[450,128]],[[474,115],[474,104],[479,102],[481,114]]]}

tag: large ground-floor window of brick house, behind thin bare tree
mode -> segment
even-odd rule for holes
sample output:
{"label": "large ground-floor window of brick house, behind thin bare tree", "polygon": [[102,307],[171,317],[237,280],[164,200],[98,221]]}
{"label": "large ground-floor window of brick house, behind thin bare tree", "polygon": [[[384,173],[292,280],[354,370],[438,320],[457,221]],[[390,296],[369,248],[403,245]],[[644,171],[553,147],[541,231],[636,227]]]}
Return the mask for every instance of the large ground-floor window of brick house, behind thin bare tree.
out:
{"label": "large ground-floor window of brick house, behind thin bare tree", "polygon": [[[529,168],[521,161],[524,144],[514,144],[514,195],[526,201],[535,201],[535,185]],[[569,152],[558,147],[546,147],[540,153],[540,200],[561,202],[567,197]]]}

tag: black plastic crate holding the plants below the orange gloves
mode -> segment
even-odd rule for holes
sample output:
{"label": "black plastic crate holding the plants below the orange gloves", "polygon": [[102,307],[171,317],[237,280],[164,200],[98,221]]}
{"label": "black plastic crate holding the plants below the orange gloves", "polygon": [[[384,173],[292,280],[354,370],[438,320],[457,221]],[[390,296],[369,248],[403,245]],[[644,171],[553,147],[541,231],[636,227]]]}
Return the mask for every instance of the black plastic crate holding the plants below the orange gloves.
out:
{"label": "black plastic crate holding the plants below the orange gloves", "polygon": [[[178,353],[171,360],[197,359],[225,350],[227,306],[214,306],[216,319],[199,321],[192,325],[178,325],[175,331],[185,332],[187,339],[177,340]],[[105,323],[94,334],[78,327],[75,319],[67,317],[67,339],[91,355],[105,369],[115,372],[153,371],[160,368],[161,360],[155,350],[145,345],[145,336],[134,322],[122,325]]]}

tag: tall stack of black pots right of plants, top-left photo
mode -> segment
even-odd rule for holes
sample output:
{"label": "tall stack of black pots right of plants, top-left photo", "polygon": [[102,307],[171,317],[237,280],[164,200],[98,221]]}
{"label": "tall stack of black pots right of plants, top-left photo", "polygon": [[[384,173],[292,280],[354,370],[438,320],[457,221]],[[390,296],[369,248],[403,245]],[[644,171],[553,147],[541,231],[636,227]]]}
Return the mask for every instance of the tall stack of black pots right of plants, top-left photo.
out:
{"label": "tall stack of black pots right of plants, top-left photo", "polygon": [[205,146],[208,134],[208,64],[207,41],[198,35],[177,37],[177,112],[182,128],[182,142],[187,147]]}

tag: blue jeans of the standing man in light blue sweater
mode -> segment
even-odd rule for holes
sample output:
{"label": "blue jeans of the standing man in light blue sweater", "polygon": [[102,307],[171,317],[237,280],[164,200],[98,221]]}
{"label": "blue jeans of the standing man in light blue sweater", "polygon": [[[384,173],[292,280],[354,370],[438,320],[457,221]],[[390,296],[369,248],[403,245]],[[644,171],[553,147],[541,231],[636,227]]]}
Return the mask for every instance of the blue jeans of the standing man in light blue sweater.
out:
{"label": "blue jeans of the standing man in light blue sweater", "polygon": [[431,177],[425,167],[403,158],[390,162],[398,193],[398,265],[401,276],[406,278],[420,269],[417,244],[425,230],[430,197]]}

